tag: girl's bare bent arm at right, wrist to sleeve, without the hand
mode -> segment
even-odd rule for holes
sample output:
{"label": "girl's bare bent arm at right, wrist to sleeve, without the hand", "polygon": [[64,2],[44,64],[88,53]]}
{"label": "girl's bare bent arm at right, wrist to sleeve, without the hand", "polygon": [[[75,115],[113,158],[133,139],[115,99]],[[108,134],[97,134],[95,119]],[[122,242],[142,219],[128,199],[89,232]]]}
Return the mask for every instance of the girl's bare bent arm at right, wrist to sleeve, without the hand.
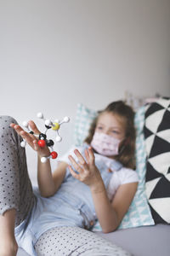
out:
{"label": "girl's bare bent arm at right, wrist to sleeve, without the hand", "polygon": [[138,183],[127,183],[121,185],[114,199],[109,201],[105,186],[92,192],[94,206],[99,218],[99,224],[104,233],[109,233],[119,226],[122,218],[126,214],[133,196],[135,195]]}

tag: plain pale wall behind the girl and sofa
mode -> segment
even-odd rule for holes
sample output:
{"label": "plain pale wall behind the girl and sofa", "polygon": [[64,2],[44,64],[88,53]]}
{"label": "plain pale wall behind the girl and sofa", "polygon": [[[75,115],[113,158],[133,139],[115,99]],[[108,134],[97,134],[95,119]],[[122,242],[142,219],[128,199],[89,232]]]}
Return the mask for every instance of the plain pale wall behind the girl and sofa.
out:
{"label": "plain pale wall behind the girl and sofa", "polygon": [[0,0],[1,114],[69,115],[62,152],[77,102],[170,96],[169,27],[169,0]]}

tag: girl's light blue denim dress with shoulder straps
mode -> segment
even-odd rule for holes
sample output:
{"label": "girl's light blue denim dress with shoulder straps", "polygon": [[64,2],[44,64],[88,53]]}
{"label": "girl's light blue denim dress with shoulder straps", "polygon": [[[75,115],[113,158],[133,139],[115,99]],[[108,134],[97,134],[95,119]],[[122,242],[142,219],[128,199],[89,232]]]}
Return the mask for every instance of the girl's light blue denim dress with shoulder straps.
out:
{"label": "girl's light blue denim dress with shoulder straps", "polygon": [[[81,153],[88,144],[84,143]],[[116,160],[110,160],[111,169],[118,171],[122,164]],[[111,172],[107,172],[105,161],[96,158],[95,165],[107,188],[111,179]],[[19,247],[23,247],[27,253],[36,256],[34,245],[37,239],[45,231],[54,227],[78,226],[90,229],[96,221],[94,202],[88,185],[71,176],[67,168],[64,182],[57,193],[49,198],[42,197],[38,189],[34,189],[36,195],[35,204],[26,220],[15,228],[15,237]]]}

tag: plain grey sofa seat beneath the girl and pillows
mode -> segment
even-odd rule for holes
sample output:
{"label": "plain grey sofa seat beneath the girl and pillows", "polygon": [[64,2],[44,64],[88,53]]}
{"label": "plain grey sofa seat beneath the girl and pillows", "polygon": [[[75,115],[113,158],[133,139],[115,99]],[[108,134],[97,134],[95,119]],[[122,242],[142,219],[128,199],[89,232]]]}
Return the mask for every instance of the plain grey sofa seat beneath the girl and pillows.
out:
{"label": "plain grey sofa seat beneath the girl and pillows", "polygon": [[[166,224],[116,230],[109,234],[98,232],[99,236],[122,247],[134,256],[169,256],[169,234],[170,226]],[[19,248],[17,256],[28,256],[28,254]]]}

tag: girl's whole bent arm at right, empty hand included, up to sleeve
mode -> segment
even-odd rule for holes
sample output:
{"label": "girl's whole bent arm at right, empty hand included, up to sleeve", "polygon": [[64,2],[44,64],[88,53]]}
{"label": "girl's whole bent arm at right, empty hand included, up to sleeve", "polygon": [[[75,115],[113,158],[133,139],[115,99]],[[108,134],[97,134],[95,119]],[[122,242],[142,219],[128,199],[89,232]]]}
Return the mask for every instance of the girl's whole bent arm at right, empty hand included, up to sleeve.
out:
{"label": "girl's whole bent arm at right, empty hand included, up to sleeve", "polygon": [[116,230],[133,200],[138,183],[121,185],[119,189],[117,189],[116,195],[111,202],[108,198],[105,184],[103,183],[99,170],[94,164],[92,148],[88,148],[88,150],[86,149],[85,151],[87,161],[84,160],[78,150],[74,152],[79,162],[77,163],[71,155],[69,156],[72,165],[78,172],[77,174],[73,171],[71,166],[69,166],[72,176],[86,183],[91,189],[95,211],[103,232],[108,233]]}

